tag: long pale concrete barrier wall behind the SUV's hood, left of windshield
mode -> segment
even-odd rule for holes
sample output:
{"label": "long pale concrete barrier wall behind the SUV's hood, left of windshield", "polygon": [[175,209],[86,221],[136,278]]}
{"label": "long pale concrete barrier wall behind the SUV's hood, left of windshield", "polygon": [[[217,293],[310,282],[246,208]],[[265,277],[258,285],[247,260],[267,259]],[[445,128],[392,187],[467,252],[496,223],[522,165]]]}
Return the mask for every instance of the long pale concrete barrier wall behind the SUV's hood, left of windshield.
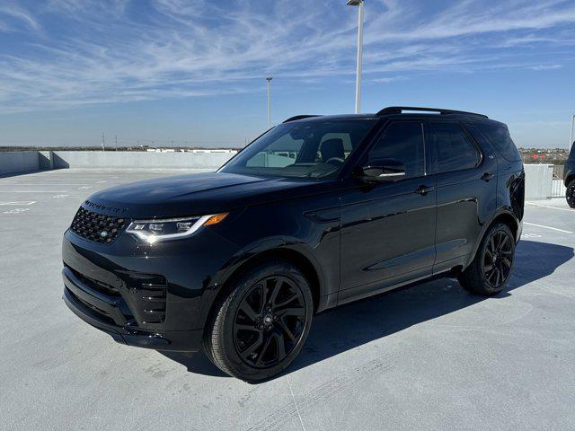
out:
{"label": "long pale concrete barrier wall behind the SUV's hood, left of windshield", "polygon": [[138,151],[55,151],[54,169],[60,168],[205,168],[217,169],[231,153],[148,153]]}

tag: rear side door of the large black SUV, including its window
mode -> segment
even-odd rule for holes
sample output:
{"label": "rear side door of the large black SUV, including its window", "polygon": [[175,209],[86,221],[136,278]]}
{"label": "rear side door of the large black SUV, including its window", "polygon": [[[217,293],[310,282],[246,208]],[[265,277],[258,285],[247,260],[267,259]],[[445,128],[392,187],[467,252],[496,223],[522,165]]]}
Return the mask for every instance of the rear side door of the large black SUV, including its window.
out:
{"label": "rear side door of the large black SUV, including its window", "polygon": [[429,120],[427,139],[437,187],[434,272],[466,263],[496,208],[497,161],[458,121]]}

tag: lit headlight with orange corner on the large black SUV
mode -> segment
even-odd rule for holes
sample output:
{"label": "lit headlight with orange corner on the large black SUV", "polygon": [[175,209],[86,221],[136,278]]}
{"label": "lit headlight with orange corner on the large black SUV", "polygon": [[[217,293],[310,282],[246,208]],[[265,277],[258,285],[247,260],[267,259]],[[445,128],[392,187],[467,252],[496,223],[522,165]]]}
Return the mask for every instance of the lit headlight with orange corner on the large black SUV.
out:
{"label": "lit headlight with orange corner on the large black SUV", "polygon": [[190,236],[201,226],[218,224],[226,218],[227,214],[134,221],[129,224],[126,232],[149,243],[168,241]]}

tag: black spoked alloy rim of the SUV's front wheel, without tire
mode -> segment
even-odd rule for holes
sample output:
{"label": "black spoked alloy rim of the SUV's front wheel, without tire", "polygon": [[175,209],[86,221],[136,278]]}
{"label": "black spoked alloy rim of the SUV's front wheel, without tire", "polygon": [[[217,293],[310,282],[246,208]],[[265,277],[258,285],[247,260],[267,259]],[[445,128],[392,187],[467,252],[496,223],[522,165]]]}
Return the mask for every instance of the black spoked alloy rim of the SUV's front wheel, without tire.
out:
{"label": "black spoked alloy rim of the SUV's front wheel, without tire", "polygon": [[252,286],[234,318],[234,346],[243,362],[269,368],[283,361],[304,332],[302,290],[288,277],[265,277]]}

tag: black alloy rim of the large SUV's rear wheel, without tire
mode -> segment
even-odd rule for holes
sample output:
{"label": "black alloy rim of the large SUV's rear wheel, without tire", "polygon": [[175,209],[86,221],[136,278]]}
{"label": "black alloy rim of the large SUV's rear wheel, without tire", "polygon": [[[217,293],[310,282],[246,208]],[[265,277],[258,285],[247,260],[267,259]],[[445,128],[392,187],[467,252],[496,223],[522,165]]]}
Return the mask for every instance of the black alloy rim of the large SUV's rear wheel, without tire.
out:
{"label": "black alloy rim of the large SUV's rear wheel, without tire", "polygon": [[508,279],[513,266],[513,238],[505,231],[495,232],[483,252],[483,275],[493,288]]}

